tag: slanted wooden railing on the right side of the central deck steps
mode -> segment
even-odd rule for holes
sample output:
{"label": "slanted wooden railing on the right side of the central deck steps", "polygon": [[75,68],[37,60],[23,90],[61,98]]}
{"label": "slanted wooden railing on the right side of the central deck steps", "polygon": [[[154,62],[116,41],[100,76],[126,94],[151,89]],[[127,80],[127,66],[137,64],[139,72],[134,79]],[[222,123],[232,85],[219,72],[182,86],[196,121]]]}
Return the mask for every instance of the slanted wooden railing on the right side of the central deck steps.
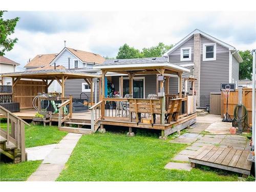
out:
{"label": "slanted wooden railing on the right side of the central deck steps", "polygon": [[[91,108],[89,108],[89,110],[91,111],[91,130],[92,132],[95,131],[95,126],[98,126],[98,121],[101,118],[101,104],[103,103],[103,101],[99,101],[96,104],[94,104],[93,106],[91,106]],[[97,129],[97,128],[96,128]]]}

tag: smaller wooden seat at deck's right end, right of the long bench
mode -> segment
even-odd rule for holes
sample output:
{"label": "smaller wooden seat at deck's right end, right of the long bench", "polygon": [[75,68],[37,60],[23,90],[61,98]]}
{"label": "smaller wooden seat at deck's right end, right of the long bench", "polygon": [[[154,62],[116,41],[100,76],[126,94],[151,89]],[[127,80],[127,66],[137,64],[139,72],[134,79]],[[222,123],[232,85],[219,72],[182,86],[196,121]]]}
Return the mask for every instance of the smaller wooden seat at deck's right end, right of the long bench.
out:
{"label": "smaller wooden seat at deck's right end, right of the long bench", "polygon": [[182,98],[169,99],[168,108],[165,113],[165,120],[167,121],[167,123],[170,123],[173,117],[174,117],[174,120],[177,121],[180,108],[181,108],[181,102],[182,102]]}

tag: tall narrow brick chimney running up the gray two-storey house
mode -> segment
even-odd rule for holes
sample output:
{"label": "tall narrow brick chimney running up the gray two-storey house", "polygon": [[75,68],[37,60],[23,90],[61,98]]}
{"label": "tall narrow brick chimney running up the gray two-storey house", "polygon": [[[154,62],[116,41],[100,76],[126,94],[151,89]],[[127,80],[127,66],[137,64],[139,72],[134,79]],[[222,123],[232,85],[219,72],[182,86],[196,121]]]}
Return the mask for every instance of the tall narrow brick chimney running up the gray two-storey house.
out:
{"label": "tall narrow brick chimney running up the gray two-storey house", "polygon": [[197,94],[197,108],[200,107],[200,65],[201,65],[201,40],[200,33],[194,34],[194,77],[197,78],[195,89]]}

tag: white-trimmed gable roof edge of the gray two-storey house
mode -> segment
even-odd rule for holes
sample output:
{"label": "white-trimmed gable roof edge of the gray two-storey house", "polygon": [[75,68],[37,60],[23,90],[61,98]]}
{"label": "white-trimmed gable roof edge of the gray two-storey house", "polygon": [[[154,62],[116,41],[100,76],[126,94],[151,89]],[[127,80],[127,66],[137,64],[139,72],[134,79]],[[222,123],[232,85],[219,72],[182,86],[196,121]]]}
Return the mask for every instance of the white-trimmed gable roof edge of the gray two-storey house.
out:
{"label": "white-trimmed gable roof edge of the gray two-storey house", "polygon": [[235,53],[234,56],[237,58],[237,60],[239,62],[243,62],[243,59],[242,57],[239,55],[239,53],[237,52],[236,48],[229,45],[229,44],[226,44],[225,42],[215,38],[215,37],[212,37],[210,35],[208,35],[207,33],[203,32],[203,31],[200,31],[199,29],[195,29],[194,31],[192,31],[191,33],[189,33],[187,36],[185,36],[183,39],[181,39],[174,47],[172,47],[171,49],[169,49],[168,51],[166,51],[164,53],[164,56],[167,56],[168,54],[172,53],[173,51],[175,51],[177,48],[179,48],[184,42],[186,42],[190,37],[192,37],[194,34],[197,34],[197,33],[200,33],[201,35],[205,36],[206,38],[212,40],[212,41],[215,41],[217,42],[218,44],[222,45],[223,47],[226,47],[229,51]]}

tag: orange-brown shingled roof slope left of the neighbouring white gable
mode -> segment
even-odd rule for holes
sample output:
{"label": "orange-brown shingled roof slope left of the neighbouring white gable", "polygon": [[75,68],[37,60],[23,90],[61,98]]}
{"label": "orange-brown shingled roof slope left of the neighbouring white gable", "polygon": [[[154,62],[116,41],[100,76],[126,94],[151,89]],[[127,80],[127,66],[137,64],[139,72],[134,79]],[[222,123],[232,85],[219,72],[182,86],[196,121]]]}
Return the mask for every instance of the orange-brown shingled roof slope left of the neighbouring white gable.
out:
{"label": "orange-brown shingled roof slope left of the neighbouring white gable", "polygon": [[25,68],[30,67],[42,67],[42,66],[49,66],[50,62],[56,57],[56,53],[54,54],[44,54],[44,55],[36,55],[27,65]]}

